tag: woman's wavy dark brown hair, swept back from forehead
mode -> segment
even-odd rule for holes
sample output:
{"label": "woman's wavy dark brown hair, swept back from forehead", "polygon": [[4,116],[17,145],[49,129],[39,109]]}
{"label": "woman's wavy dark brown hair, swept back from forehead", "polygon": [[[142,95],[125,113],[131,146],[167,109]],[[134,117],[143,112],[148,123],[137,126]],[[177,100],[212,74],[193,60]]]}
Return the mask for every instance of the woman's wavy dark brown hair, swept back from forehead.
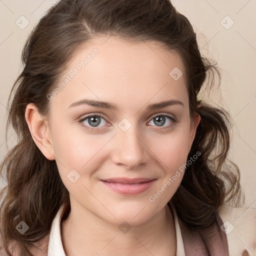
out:
{"label": "woman's wavy dark brown hair, swept back from forehead", "polygon": [[[154,40],[182,58],[190,116],[196,112],[201,117],[187,159],[197,151],[201,155],[186,168],[181,185],[171,198],[179,218],[190,228],[205,228],[215,220],[216,210],[224,201],[238,205],[239,169],[226,159],[230,116],[223,108],[196,99],[201,86],[206,84],[210,89],[215,74],[220,76],[220,72],[216,64],[200,54],[188,19],[169,0],[60,0],[29,35],[22,51],[24,68],[8,99],[6,131],[12,124],[18,136],[18,143],[0,166],[0,173],[7,180],[0,192],[0,234],[8,255],[11,240],[21,244],[20,255],[32,255],[28,245],[49,233],[59,206],[64,203],[70,210],[69,194],[55,160],[46,159],[35,145],[24,113],[26,105],[34,103],[47,116],[47,94],[56,86],[68,60],[79,45],[98,35]],[[204,206],[191,207],[182,199],[181,189]],[[21,220],[29,226],[24,234],[15,228]]]}

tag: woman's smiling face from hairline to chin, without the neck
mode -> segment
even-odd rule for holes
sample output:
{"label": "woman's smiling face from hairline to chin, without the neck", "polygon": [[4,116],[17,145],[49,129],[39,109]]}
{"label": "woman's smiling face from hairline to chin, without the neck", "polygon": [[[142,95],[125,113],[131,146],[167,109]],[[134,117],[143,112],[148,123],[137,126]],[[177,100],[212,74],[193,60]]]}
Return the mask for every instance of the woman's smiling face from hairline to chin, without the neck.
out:
{"label": "woman's smiling face from hairline to chin, without the neck", "polygon": [[71,209],[139,224],[164,208],[199,122],[181,72],[179,55],[157,42],[98,37],[75,52],[48,94],[47,122]]}

